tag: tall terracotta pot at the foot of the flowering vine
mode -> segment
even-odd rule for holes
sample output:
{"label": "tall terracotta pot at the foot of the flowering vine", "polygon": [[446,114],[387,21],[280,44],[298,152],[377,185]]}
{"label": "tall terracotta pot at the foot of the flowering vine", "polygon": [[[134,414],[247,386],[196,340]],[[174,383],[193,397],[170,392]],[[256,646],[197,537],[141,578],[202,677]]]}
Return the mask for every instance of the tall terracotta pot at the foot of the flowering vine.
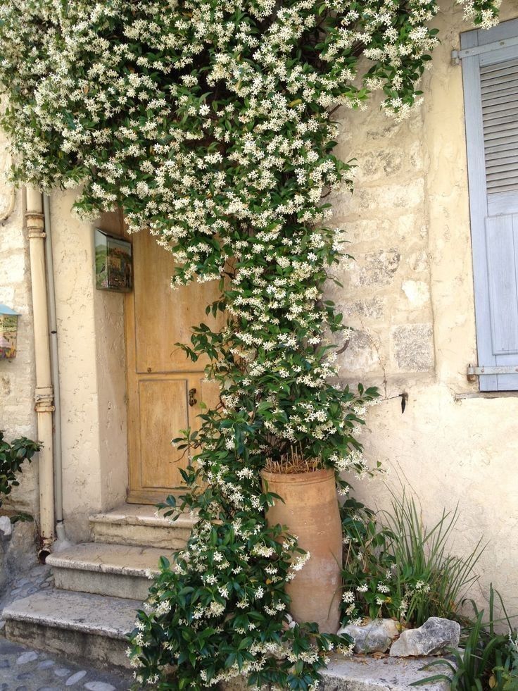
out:
{"label": "tall terracotta pot at the foot of the flowering vine", "polygon": [[269,525],[286,525],[310,558],[286,586],[290,614],[298,623],[316,621],[322,633],[336,633],[340,621],[342,531],[334,471],[267,473],[263,483],[279,494],[267,511]]}

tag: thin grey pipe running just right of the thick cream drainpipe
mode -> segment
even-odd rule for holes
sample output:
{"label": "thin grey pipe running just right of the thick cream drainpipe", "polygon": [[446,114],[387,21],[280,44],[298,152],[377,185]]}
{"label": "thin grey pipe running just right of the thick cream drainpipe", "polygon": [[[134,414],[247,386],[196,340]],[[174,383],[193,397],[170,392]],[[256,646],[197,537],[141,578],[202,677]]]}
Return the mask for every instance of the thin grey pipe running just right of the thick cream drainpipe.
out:
{"label": "thin grey pipe running just right of the thick cream drainpipe", "polygon": [[61,392],[59,387],[58,320],[56,318],[56,292],[54,290],[54,263],[52,257],[51,206],[48,194],[43,197],[45,230],[46,290],[49,304],[49,332],[51,347],[51,376],[54,391],[54,503],[56,505],[56,535],[53,552],[70,547],[63,523],[63,456],[61,454]]}

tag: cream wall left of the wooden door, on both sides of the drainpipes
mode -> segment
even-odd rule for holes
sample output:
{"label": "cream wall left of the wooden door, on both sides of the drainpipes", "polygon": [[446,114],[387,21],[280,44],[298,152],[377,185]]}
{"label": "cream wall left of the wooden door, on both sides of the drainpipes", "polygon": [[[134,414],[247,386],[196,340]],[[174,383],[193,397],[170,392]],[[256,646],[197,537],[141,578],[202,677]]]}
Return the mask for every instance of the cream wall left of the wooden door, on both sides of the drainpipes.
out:
{"label": "cream wall left of the wooden door, on both sides of the drainpipes", "polygon": [[[37,439],[34,330],[25,198],[6,183],[8,145],[0,135],[0,302],[20,313],[18,351],[0,360],[0,430]],[[63,442],[63,510],[71,540],[87,540],[91,513],[124,502],[127,491],[123,297],[95,290],[94,228],[51,198]],[[38,518],[37,456],[23,466],[7,511]]]}

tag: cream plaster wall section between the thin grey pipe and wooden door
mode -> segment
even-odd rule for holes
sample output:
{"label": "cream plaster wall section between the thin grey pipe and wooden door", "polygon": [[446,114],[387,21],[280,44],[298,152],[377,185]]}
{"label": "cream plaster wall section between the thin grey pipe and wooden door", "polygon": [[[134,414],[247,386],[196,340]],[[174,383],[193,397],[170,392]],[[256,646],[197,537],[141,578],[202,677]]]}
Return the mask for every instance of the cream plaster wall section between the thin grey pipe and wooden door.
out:
{"label": "cream plaster wall section between the thin grey pipe and wooden door", "polygon": [[122,294],[97,291],[94,227],[71,212],[72,192],[51,199],[68,537],[89,537],[88,517],[127,490]]}

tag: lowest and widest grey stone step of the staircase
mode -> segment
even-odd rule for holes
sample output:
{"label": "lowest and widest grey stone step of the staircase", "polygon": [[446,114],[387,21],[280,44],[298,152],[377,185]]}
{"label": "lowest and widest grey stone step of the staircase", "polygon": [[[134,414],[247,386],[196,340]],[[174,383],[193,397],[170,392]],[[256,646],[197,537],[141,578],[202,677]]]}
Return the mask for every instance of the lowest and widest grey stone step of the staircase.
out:
{"label": "lowest and widest grey stone step of the staircase", "polygon": [[106,668],[129,667],[126,636],[134,628],[134,599],[51,590],[4,609],[6,638]]}

